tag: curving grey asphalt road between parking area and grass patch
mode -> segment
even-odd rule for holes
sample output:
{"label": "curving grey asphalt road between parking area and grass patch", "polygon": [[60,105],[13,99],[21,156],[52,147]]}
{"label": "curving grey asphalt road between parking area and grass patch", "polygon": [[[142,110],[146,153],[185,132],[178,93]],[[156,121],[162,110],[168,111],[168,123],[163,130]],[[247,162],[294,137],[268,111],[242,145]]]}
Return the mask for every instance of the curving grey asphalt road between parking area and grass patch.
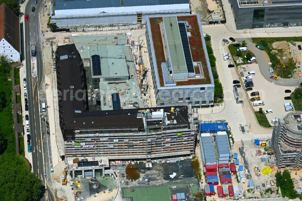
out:
{"label": "curving grey asphalt road between parking area and grass patch", "polygon": [[263,77],[269,82],[274,82],[275,85],[280,85],[280,86],[288,86],[288,87],[295,87],[299,86],[300,82],[302,81],[301,78],[296,78],[296,79],[284,79],[284,78],[279,78],[278,81],[272,80],[270,78],[271,74],[268,72],[268,61],[266,60],[266,57],[263,53],[262,50],[258,49],[254,43],[252,43],[252,40],[250,38],[236,38],[237,41],[246,41],[247,48],[255,54],[255,57],[257,59],[257,63],[259,65],[260,72]]}

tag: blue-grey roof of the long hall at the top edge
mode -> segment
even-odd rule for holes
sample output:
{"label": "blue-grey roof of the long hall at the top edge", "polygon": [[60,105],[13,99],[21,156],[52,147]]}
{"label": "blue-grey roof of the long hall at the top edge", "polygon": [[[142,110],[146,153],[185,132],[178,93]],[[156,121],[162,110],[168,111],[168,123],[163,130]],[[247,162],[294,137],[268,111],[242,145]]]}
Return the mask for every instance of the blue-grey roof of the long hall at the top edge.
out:
{"label": "blue-grey roof of the long hall at the top edge", "polygon": [[188,4],[188,0],[56,0],[55,10]]}

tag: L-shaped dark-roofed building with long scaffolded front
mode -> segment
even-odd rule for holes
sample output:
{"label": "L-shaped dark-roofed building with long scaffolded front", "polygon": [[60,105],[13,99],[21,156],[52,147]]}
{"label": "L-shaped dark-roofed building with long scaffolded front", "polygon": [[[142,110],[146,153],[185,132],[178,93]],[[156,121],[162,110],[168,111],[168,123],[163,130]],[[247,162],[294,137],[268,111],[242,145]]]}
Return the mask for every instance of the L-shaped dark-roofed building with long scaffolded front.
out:
{"label": "L-shaped dark-roofed building with long scaffolded front", "polygon": [[67,158],[151,160],[193,154],[197,124],[190,105],[121,109],[113,99],[113,110],[89,110],[83,71],[76,46],[58,46],[59,117]]}

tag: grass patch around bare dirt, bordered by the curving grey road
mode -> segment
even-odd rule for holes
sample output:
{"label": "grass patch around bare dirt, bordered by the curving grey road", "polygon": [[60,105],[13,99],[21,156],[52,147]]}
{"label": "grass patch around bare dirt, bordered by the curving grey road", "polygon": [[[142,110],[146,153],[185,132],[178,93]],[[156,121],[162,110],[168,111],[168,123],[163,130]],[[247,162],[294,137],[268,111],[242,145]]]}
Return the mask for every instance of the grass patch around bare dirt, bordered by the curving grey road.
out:
{"label": "grass patch around bare dirt, bordered by the curving grey road", "polygon": [[[253,43],[262,44],[264,46],[264,51],[267,53],[271,64],[271,67],[274,69],[275,74],[281,78],[291,78],[289,75],[293,75],[294,70],[296,69],[296,63],[294,58],[288,59],[284,64],[287,66],[283,67],[281,62],[278,59],[278,56],[286,56],[284,52],[286,49],[275,49],[272,47],[272,44],[278,41],[302,41],[302,37],[277,37],[277,38],[253,38]],[[298,48],[296,48],[298,49]],[[290,51],[293,51],[292,46]]]}

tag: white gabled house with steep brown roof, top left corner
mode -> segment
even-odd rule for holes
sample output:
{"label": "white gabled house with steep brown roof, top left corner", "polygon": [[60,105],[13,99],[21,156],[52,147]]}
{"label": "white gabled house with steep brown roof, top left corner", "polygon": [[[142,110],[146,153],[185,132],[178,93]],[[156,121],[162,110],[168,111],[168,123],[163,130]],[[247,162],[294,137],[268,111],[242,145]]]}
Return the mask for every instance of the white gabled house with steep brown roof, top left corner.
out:
{"label": "white gabled house with steep brown roof, top left corner", "polygon": [[0,6],[0,54],[20,61],[19,18],[4,3]]}

